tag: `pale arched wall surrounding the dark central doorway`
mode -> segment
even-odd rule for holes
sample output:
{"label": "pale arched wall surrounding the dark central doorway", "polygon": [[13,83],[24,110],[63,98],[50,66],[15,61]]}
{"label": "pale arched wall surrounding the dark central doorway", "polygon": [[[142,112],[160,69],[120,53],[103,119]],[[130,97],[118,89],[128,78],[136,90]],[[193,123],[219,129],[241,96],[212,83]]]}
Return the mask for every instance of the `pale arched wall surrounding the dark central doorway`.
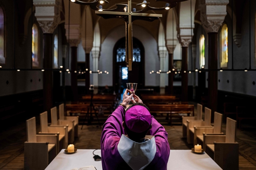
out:
{"label": "pale arched wall surrounding the dark central doorway", "polygon": [[[119,26],[110,32],[101,44],[99,69],[109,74],[99,74],[99,86],[113,86],[113,48],[116,42],[125,36],[125,26]],[[153,36],[140,26],[133,25],[133,36],[139,39],[145,49],[145,86],[159,86],[160,76],[150,74],[152,70],[159,70],[159,56],[157,42]]]}

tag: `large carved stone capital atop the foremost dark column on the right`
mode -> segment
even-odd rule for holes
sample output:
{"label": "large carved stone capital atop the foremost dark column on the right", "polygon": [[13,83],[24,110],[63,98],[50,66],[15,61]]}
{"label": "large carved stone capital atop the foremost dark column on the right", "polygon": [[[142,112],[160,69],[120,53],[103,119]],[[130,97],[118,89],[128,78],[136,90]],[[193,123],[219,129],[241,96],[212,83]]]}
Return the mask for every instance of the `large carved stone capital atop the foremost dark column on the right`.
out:
{"label": "large carved stone capital atop the foremost dark column on the right", "polygon": [[199,0],[200,20],[206,32],[218,32],[227,15],[228,0]]}

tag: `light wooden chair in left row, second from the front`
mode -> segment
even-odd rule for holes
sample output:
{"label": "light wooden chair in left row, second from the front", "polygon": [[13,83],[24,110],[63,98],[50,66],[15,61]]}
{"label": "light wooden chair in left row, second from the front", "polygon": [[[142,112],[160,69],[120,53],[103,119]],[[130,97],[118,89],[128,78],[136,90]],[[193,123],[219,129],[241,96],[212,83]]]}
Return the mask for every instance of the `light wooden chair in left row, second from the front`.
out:
{"label": "light wooden chair in left row, second from the front", "polygon": [[61,149],[68,147],[68,126],[52,127],[48,126],[47,112],[40,114],[40,127],[41,131],[39,134],[57,134],[59,135],[59,148],[58,153]]}

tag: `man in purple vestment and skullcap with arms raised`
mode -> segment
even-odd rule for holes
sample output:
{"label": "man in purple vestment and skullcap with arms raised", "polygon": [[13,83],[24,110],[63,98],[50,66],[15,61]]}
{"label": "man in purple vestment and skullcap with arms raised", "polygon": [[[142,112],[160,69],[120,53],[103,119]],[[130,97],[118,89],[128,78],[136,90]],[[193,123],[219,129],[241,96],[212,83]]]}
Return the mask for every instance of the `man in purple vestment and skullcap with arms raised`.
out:
{"label": "man in purple vestment and skullcap with arms raised", "polygon": [[[134,104],[125,111],[130,101]],[[167,170],[168,134],[142,100],[127,89],[123,102],[103,125],[100,142],[103,170]]]}

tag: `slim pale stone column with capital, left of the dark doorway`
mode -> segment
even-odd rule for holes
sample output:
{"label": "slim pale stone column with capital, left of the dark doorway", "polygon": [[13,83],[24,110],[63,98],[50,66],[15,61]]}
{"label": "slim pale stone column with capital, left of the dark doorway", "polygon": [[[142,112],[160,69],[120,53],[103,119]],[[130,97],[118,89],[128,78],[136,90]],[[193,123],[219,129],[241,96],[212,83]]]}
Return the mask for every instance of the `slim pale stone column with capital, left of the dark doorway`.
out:
{"label": "slim pale stone column with capital, left of the dark doorway", "polygon": [[[93,71],[97,72],[99,70],[99,56],[100,56],[100,50],[99,47],[93,47],[91,50],[92,56],[93,56]],[[93,85],[94,85],[94,94],[98,93],[98,87],[99,87],[99,74],[93,73]]]}

